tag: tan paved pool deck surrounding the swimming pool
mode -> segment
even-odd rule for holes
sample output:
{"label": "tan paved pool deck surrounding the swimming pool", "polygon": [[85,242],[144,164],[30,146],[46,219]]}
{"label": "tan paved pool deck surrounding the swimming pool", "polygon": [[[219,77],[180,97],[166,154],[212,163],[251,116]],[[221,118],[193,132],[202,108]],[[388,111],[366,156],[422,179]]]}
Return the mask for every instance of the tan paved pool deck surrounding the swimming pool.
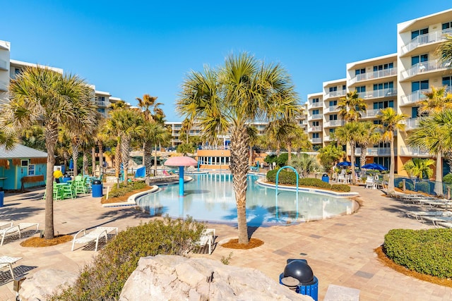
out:
{"label": "tan paved pool deck surrounding the swimming pool", "polygon": [[[212,255],[192,254],[220,260],[233,252],[230,264],[247,266],[263,271],[278,281],[286,259],[307,259],[319,278],[319,300],[323,300],[328,285],[343,285],[361,291],[360,300],[452,300],[452,288],[427,283],[393,271],[376,258],[374,249],[383,243],[384,235],[393,228],[432,228],[415,219],[408,219],[401,210],[417,209],[383,196],[379,190],[352,187],[359,192],[363,206],[351,216],[301,223],[294,226],[254,228],[252,237],[265,243],[254,250],[230,250],[215,246]],[[44,229],[44,190],[25,194],[6,194],[4,207],[0,208],[0,220],[37,222]],[[137,226],[151,218],[132,207],[104,208],[99,198],[90,195],[77,199],[54,202],[55,232],[76,233],[82,228],[115,226],[119,231]],[[222,224],[210,225],[216,229],[216,242],[237,237],[237,229]],[[71,252],[71,242],[54,247],[21,247],[20,240],[6,240],[0,246],[0,254],[23,257],[18,268],[33,274],[40,269],[64,269],[79,271],[90,262],[96,252],[83,250],[83,246]],[[13,281],[8,271],[0,272],[0,300],[16,300]],[[26,275],[25,275],[26,276]],[[5,283],[4,278],[10,279]]]}

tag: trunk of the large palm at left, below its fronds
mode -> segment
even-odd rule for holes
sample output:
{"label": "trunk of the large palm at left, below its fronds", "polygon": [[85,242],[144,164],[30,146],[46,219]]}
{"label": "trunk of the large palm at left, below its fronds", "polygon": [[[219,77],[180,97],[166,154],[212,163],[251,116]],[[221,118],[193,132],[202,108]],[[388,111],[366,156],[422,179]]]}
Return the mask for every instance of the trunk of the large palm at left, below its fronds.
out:
{"label": "trunk of the large palm at left, below its fronds", "polygon": [[45,185],[45,226],[44,238],[54,238],[54,166],[55,147],[58,140],[57,123],[47,125],[45,130],[45,147],[47,148],[47,175]]}

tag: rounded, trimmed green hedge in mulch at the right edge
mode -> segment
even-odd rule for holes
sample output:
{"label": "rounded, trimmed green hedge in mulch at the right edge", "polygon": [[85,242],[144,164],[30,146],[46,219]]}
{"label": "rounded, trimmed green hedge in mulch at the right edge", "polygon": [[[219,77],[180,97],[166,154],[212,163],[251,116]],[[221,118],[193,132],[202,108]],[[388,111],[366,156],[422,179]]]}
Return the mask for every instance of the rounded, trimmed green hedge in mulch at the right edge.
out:
{"label": "rounded, trimmed green hedge in mulch at the right edge", "polygon": [[384,237],[384,252],[396,264],[421,274],[452,277],[452,231],[393,229]]}

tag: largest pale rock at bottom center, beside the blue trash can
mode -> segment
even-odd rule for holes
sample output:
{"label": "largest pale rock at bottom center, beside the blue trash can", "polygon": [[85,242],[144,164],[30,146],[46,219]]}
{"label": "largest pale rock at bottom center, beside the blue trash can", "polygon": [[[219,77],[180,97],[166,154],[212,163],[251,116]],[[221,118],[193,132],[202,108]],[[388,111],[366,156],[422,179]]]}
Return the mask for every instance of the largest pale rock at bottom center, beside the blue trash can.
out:
{"label": "largest pale rock at bottom center, beside the blue trash can", "polygon": [[206,258],[143,257],[119,300],[305,300],[312,298],[249,268]]}

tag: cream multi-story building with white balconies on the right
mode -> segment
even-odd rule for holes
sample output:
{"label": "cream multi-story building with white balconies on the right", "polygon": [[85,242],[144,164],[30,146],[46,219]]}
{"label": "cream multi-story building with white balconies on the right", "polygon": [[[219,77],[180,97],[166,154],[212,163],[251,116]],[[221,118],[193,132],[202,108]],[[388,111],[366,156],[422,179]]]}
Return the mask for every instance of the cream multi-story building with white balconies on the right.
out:
{"label": "cream multi-story building with white balconies on the right", "polygon": [[[323,92],[308,94],[307,132],[314,147],[327,145],[335,127],[344,124],[337,104],[346,92],[356,90],[367,104],[362,121],[379,123],[379,111],[392,107],[409,116],[405,128],[408,133],[417,127],[424,92],[432,86],[446,86],[446,92],[452,92],[452,62],[441,62],[436,54],[439,44],[452,35],[452,9],[399,23],[396,35],[395,54],[347,63],[345,79],[323,82]],[[396,171],[401,174],[405,174],[403,164],[413,156],[430,156],[422,149],[409,147],[406,137],[405,133],[396,133]],[[357,148],[355,154],[360,151]],[[368,161],[389,166],[388,144],[369,147],[367,155]],[[448,172],[447,164],[443,164],[443,170]]]}

